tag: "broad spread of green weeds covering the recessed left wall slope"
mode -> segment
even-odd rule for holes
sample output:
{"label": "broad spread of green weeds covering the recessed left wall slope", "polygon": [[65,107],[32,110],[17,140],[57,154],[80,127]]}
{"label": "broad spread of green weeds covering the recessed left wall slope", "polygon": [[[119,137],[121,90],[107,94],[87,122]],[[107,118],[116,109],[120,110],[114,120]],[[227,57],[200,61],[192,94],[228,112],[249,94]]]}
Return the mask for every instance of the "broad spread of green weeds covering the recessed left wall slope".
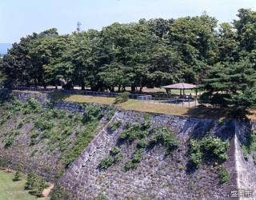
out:
{"label": "broad spread of green weeds covering the recessed left wall slope", "polygon": [[[85,114],[68,113],[64,110],[43,110],[38,102],[33,98],[23,103],[14,99],[11,103],[6,103],[1,109],[5,112],[5,118],[1,118],[0,124],[7,120],[16,120],[18,115],[23,120],[18,122],[12,130],[4,137],[5,148],[13,146],[15,137],[22,133],[22,127],[31,122],[33,128],[30,130],[30,146],[45,142],[47,150],[56,150],[61,152],[61,162],[66,166],[82,153],[82,150],[94,138],[96,128],[105,112],[102,106],[86,106]],[[107,112],[110,114],[110,112]],[[77,128],[76,128],[77,127]]]}

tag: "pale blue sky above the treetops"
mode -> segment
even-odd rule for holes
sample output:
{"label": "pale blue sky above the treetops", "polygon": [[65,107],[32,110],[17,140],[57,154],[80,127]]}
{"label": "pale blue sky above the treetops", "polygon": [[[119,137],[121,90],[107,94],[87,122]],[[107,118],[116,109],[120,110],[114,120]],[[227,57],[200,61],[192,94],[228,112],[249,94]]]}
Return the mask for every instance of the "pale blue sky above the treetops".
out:
{"label": "pale blue sky above the treetops", "polygon": [[57,28],[60,34],[97,29],[140,18],[178,18],[203,11],[219,22],[232,22],[239,8],[256,10],[256,0],[0,0],[0,42]]}

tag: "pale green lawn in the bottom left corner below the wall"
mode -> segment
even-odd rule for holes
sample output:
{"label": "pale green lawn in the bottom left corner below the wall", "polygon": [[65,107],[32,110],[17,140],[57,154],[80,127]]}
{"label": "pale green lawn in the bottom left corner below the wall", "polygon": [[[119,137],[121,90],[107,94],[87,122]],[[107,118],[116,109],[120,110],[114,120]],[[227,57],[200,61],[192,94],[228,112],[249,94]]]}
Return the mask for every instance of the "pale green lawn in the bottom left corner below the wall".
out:
{"label": "pale green lawn in the bottom left corner below the wall", "polygon": [[6,173],[0,170],[0,199],[2,200],[32,200],[32,199],[47,199],[35,198],[28,191],[24,190],[26,176],[22,175],[22,180],[13,182],[14,173]]}

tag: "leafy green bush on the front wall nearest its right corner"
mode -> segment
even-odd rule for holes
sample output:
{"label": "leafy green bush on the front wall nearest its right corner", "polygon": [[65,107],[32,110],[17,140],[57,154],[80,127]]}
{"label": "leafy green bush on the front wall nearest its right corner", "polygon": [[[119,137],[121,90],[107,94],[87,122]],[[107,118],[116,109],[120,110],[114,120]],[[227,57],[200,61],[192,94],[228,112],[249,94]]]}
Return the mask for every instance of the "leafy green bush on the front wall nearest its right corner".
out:
{"label": "leafy green bush on the front wall nearest its right corner", "polygon": [[204,137],[201,140],[190,139],[190,162],[194,166],[200,166],[205,160],[225,161],[228,157],[226,151],[230,144],[220,138]]}

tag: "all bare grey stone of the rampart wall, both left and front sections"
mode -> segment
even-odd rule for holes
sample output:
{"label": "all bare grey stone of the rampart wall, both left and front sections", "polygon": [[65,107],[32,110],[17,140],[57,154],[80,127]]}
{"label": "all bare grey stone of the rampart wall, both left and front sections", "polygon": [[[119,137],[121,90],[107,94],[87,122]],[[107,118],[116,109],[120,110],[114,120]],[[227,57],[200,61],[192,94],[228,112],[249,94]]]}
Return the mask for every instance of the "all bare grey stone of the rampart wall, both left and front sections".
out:
{"label": "all bare grey stone of the rampart wall, both left and front sections", "polygon": [[[27,98],[35,98],[45,108],[47,108],[46,102],[50,101],[47,94],[18,92],[15,96],[22,102],[26,102]],[[57,102],[52,105],[55,108],[72,112],[82,113],[85,111],[75,102]],[[131,145],[125,143],[120,146],[123,155],[122,162],[107,170],[99,170],[100,160],[105,158],[109,151],[116,146],[126,122],[142,123],[144,114],[117,110],[110,122],[116,120],[121,121],[122,126],[114,132],[108,129],[108,125],[104,126],[60,178],[59,184],[69,190],[74,198],[95,199],[103,195],[109,199],[230,199],[232,190],[255,191],[256,169],[254,162],[251,157],[248,161],[243,158],[240,147],[245,142],[246,134],[255,129],[255,122],[236,120],[218,122],[218,120],[210,118],[150,114],[152,125],[167,126],[174,131],[180,142],[178,150],[175,150],[172,156],[165,156],[166,150],[162,146],[155,146],[154,149],[146,151],[137,169],[125,172],[123,166],[131,158],[136,142]],[[26,126],[26,131],[29,131],[30,125]],[[202,165],[194,171],[191,171],[187,165],[188,139],[191,136],[202,137],[209,131],[210,135],[230,139],[230,150],[227,152],[229,159],[224,163],[231,174],[229,183],[219,183],[218,171],[212,165]],[[26,156],[31,153],[30,147],[22,145],[27,143],[26,134],[18,137],[17,142],[20,142],[20,146],[14,150],[14,154],[4,154],[6,158],[17,165],[23,162],[30,163],[39,169],[42,175],[56,173],[54,170],[47,172],[45,168],[40,170],[40,166],[44,165],[56,166],[58,169],[58,162],[49,163],[54,158],[47,158],[46,154],[40,162],[36,159],[31,160]],[[56,156],[58,157],[58,155]]]}

